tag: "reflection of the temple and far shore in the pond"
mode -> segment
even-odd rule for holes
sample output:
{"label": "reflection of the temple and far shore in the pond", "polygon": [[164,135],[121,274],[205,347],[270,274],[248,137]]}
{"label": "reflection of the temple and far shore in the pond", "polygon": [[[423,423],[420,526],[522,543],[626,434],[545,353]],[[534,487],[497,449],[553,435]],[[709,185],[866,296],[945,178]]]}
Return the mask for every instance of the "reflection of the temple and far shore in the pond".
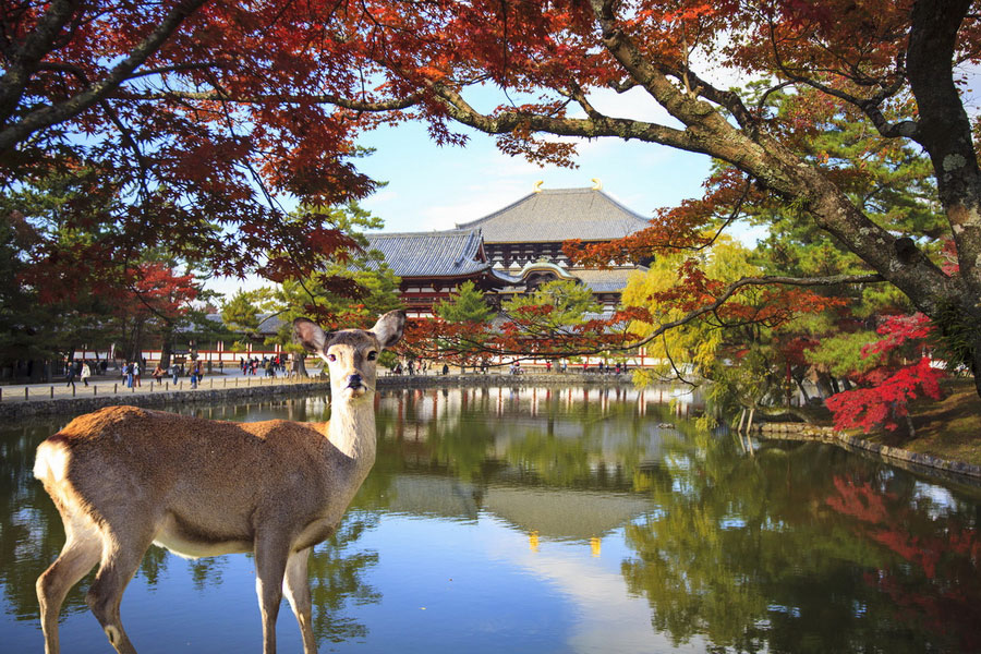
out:
{"label": "reflection of the temple and far shore in the pond", "polygon": [[[589,543],[598,556],[604,537],[652,509],[645,497],[631,492],[631,471],[663,459],[666,432],[657,421],[638,419],[657,410],[656,404],[663,408],[669,397],[632,388],[383,391],[379,414],[396,420],[379,425],[379,439],[397,444],[411,471],[391,477],[386,508],[452,520],[492,518],[528,534],[532,549],[537,538],[578,541]],[[690,403],[683,407],[687,412]],[[481,456],[502,463],[495,467],[493,479],[465,481],[433,465],[428,439],[434,431],[465,425],[468,438],[480,433],[479,423],[468,415],[495,424],[480,446]],[[588,443],[589,479],[556,485],[530,473],[533,467],[516,465],[514,452],[538,438],[557,451],[579,453]]]}

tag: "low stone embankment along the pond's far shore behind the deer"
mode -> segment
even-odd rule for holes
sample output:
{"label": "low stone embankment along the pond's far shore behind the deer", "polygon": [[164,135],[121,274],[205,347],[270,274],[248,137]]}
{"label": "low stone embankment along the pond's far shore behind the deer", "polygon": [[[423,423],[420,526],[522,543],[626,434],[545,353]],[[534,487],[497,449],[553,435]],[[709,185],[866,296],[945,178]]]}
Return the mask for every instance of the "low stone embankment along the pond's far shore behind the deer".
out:
{"label": "low stone embankment along the pond's far shore behind the deer", "polygon": [[[330,384],[326,378],[311,378],[310,382],[267,383],[232,388],[214,388],[206,380],[201,388],[155,390],[141,389],[131,392],[98,393],[74,397],[56,395],[51,398],[29,400],[5,399],[0,403],[0,419],[26,415],[49,415],[57,413],[82,414],[116,404],[133,407],[168,407],[184,403],[217,403],[239,400],[268,399],[279,396],[304,396],[316,392],[329,393]],[[384,376],[377,380],[379,390],[393,388],[455,388],[461,386],[568,386],[568,385],[617,385],[629,384],[630,375],[581,375],[581,374],[522,374],[522,375],[401,375]],[[41,392],[44,388],[39,387]],[[10,395],[10,393],[8,393]],[[53,395],[53,393],[52,393]]]}

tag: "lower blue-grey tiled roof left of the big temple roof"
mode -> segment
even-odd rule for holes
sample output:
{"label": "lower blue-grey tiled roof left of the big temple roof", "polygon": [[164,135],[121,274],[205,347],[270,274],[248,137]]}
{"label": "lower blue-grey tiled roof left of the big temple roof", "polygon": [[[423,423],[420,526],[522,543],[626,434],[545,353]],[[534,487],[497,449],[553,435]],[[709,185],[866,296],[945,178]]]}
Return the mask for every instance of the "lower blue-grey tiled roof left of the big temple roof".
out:
{"label": "lower blue-grey tiled roof left of the big temple roof", "polygon": [[481,257],[479,229],[365,235],[399,277],[457,277],[491,267]]}

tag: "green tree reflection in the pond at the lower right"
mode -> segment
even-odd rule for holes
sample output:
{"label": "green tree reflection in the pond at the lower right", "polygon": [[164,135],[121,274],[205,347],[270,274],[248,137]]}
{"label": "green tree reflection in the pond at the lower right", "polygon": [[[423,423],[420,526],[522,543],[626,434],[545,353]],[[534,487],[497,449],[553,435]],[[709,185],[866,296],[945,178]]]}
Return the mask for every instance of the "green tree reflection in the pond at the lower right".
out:
{"label": "green tree reflection in the pond at the lower right", "polygon": [[[897,604],[921,619],[931,616],[917,601],[897,602],[891,589],[868,583],[894,569],[898,550],[857,531],[850,513],[826,501],[840,496],[828,470],[876,489],[874,499],[867,495],[859,502],[863,517],[876,502],[892,501],[888,494],[909,502],[911,477],[825,446],[764,448],[749,459],[737,455],[731,440],[698,440],[701,447],[675,450],[657,467],[650,494],[658,508],[626,530],[635,556],[623,561],[622,573],[630,591],[650,602],[655,629],[676,644],[703,635],[712,647],[740,652],[960,651],[942,632],[897,619]],[[920,507],[909,510],[929,517]],[[891,507],[874,514],[895,521],[903,513]],[[928,522],[940,535],[957,519]],[[909,520],[894,529],[922,533]],[[922,537],[904,544],[932,560],[917,541]],[[943,578],[969,598],[961,609],[978,610],[981,597],[967,591],[978,588],[974,566],[961,560],[961,569],[952,567]],[[911,580],[906,574],[901,581]],[[978,617],[965,615],[959,628],[976,629]],[[977,649],[977,641],[960,642]]]}

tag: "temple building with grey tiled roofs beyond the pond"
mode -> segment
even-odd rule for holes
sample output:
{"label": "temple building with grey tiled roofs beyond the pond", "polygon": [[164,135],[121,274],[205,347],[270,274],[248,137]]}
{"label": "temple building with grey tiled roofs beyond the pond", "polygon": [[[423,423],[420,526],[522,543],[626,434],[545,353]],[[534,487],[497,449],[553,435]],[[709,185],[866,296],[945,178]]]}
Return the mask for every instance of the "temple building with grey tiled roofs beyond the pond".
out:
{"label": "temple building with grey tiled roofs beyond the pond", "polygon": [[611,310],[638,266],[597,269],[571,266],[562,242],[602,243],[646,227],[647,220],[592,189],[541,189],[493,214],[440,232],[368,234],[402,278],[402,299],[411,315],[429,315],[467,280],[485,291],[492,304],[533,291],[554,279],[588,286]]}

